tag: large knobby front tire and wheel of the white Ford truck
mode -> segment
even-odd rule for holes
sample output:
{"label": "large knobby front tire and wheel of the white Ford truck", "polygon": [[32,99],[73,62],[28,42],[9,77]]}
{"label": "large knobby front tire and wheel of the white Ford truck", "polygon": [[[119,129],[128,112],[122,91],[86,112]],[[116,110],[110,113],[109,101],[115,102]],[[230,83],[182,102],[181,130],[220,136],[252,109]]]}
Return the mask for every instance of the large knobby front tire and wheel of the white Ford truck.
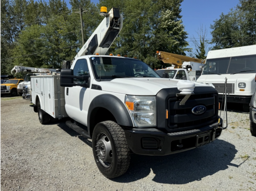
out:
{"label": "large knobby front tire and wheel of the white Ford truck", "polygon": [[92,148],[98,169],[108,179],[126,173],[130,149],[124,130],[113,121],[98,123],[92,135]]}

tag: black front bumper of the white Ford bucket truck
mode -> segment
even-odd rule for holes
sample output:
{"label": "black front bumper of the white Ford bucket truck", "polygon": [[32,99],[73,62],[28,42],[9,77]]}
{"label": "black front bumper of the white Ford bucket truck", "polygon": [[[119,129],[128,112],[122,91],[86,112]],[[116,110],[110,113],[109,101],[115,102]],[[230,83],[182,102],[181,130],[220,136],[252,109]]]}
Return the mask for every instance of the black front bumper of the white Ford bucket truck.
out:
{"label": "black front bumper of the white Ford bucket truck", "polygon": [[[221,120],[222,123],[222,120]],[[124,128],[128,147],[135,154],[167,155],[208,144],[222,132],[218,121],[194,130],[165,133],[156,128]]]}

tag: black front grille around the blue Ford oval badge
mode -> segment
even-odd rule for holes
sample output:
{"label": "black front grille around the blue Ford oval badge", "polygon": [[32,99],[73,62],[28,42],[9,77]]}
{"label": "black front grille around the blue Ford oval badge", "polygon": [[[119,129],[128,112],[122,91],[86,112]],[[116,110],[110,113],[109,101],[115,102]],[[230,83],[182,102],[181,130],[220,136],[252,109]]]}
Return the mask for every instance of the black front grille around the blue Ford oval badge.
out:
{"label": "black front grille around the blue Ford oval badge", "polygon": [[[218,97],[217,93],[191,95],[185,105],[180,105],[184,97],[175,97],[169,99],[168,127],[170,129],[184,127],[201,127],[215,120],[218,115]],[[203,114],[195,115],[192,108],[197,105],[206,107]]]}

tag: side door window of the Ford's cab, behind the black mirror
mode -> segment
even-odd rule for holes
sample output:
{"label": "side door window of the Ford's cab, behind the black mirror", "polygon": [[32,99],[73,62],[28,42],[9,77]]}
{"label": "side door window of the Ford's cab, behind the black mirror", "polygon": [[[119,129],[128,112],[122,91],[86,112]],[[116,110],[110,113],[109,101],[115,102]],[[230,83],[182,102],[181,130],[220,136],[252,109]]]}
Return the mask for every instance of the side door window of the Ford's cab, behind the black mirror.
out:
{"label": "side door window of the Ford's cab, behind the black mirror", "polygon": [[[89,69],[86,59],[81,59],[76,61],[74,67],[74,76],[84,76],[89,75]],[[74,78],[74,83],[84,83],[82,79]]]}

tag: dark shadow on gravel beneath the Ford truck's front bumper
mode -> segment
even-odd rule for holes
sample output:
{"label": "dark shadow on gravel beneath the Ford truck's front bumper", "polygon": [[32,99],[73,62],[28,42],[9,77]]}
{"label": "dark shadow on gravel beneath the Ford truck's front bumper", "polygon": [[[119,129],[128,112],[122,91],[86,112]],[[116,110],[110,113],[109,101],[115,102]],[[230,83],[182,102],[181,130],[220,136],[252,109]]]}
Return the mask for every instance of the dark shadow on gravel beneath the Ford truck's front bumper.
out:
{"label": "dark shadow on gravel beneath the Ford truck's front bumper", "polygon": [[[216,140],[187,152],[167,156],[131,155],[130,168],[112,181],[127,183],[143,179],[153,171],[153,181],[162,184],[187,184],[228,168],[237,150],[233,144]],[[150,175],[151,176],[151,175]]]}

